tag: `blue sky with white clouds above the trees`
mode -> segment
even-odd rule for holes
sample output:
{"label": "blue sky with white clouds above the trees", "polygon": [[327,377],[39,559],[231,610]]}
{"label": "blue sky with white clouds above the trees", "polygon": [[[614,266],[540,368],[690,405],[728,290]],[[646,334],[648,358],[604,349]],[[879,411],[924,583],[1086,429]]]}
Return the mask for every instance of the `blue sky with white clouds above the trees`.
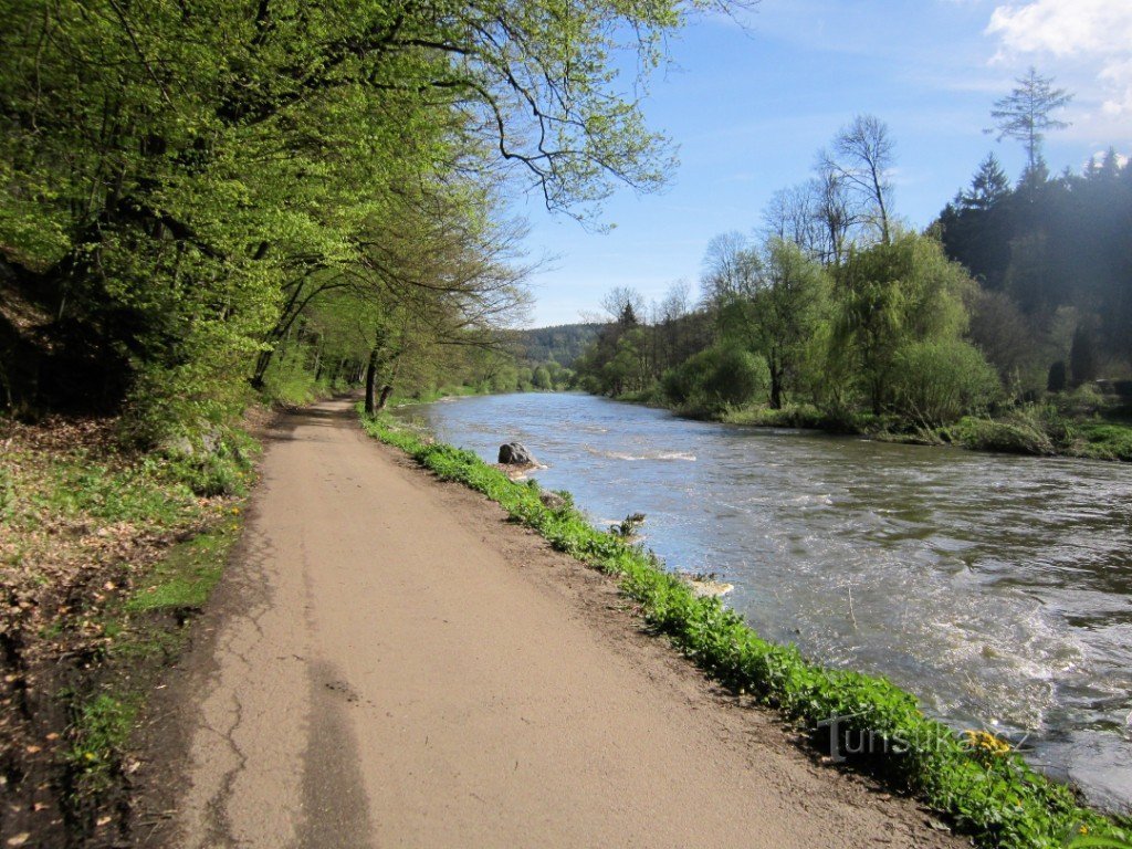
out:
{"label": "blue sky with white clouds above the trees", "polygon": [[614,286],[661,300],[698,292],[704,249],[753,233],[778,189],[805,181],[816,152],[859,113],[897,143],[894,212],[923,228],[994,152],[1012,179],[1017,142],[984,130],[990,109],[1032,65],[1074,94],[1045,155],[1079,171],[1109,146],[1132,153],[1132,0],[761,0],[736,22],[694,19],[669,44],[670,67],[643,103],[680,165],[660,194],[620,188],[599,232],[514,199],[542,265],[529,326],[600,312]]}

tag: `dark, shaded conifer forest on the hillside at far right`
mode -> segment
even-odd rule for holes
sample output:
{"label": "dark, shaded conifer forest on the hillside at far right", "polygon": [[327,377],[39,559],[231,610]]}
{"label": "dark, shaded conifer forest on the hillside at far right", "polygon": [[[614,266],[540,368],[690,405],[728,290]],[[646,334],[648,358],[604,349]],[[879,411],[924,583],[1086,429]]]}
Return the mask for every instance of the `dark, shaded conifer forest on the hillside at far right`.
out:
{"label": "dark, shaded conifer forest on the hillside at far right", "polygon": [[[1083,174],[1029,179],[983,203],[961,198],[940,216],[947,255],[997,300],[985,323],[972,324],[976,341],[1004,376],[1022,372],[1022,389],[1043,389],[1052,362],[1067,361],[1072,371],[1069,336],[1079,325],[1089,331],[1081,342],[1094,349],[1095,366],[1074,383],[1132,367],[1125,294],[1132,168],[1120,168],[1115,156],[1105,162]],[[1058,317],[1066,309],[1077,312],[1069,334]]]}

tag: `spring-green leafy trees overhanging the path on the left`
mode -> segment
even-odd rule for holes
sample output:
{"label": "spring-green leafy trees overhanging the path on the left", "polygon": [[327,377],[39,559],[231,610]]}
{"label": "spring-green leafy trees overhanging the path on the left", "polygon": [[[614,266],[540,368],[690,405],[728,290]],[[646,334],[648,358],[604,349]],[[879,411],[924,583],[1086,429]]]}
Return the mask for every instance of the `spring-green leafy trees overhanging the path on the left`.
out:
{"label": "spring-green leafy trees overhanging the path on the left", "polygon": [[0,2],[0,261],[51,317],[26,350],[82,369],[2,403],[125,401],[157,445],[230,421],[249,379],[292,403],[369,363],[452,383],[439,349],[524,306],[499,198],[589,217],[661,186],[619,69],[707,6]]}

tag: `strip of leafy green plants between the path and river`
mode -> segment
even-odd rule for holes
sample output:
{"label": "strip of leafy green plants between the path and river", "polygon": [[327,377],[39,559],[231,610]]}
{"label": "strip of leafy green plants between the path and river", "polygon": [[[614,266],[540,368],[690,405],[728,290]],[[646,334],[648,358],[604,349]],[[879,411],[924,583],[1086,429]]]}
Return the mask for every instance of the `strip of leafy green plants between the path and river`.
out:
{"label": "strip of leafy green plants between the path and river", "polygon": [[1052,848],[1074,840],[1129,839],[1129,823],[1082,806],[1069,788],[1036,773],[1004,740],[957,734],[927,718],[914,696],[885,679],[827,669],[794,646],[762,640],[718,600],[696,598],[651,552],[594,529],[568,496],[548,498],[535,482],[513,482],[471,452],[432,443],[388,417],[363,424],[439,477],[498,501],[556,549],[619,578],[641,615],[680,651],[731,688],[778,709],[816,745],[831,745],[834,735],[823,723],[837,719],[837,741],[851,766],[915,795],[979,846]]}

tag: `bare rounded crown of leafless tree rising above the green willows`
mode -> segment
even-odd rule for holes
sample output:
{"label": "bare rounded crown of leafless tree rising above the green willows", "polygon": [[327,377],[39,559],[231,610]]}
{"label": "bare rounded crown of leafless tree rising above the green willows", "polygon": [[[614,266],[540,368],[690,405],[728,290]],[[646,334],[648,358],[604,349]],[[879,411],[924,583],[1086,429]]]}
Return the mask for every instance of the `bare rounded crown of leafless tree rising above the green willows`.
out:
{"label": "bare rounded crown of leafless tree rising above the green willows", "polygon": [[891,239],[889,207],[894,153],[889,126],[876,115],[863,114],[841,128],[833,139],[832,153],[821,154],[824,166],[863,199],[867,220],[884,245]]}

